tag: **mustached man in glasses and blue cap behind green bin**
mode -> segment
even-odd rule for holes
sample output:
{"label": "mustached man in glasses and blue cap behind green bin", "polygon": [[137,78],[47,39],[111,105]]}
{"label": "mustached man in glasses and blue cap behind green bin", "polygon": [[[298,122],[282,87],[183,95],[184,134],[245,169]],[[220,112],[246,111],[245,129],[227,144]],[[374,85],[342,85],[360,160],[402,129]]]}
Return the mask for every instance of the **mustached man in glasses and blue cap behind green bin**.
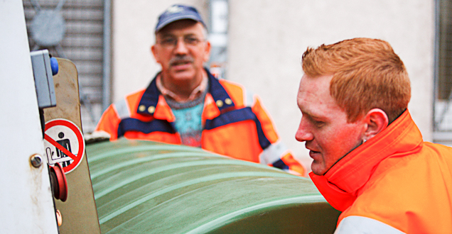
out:
{"label": "mustached man in glasses and blue cap behind green bin", "polygon": [[149,87],[107,108],[96,131],[110,140],[154,140],[202,147],[305,175],[282,145],[259,97],[203,67],[210,43],[198,11],[173,5],[159,17],[151,52],[161,65]]}

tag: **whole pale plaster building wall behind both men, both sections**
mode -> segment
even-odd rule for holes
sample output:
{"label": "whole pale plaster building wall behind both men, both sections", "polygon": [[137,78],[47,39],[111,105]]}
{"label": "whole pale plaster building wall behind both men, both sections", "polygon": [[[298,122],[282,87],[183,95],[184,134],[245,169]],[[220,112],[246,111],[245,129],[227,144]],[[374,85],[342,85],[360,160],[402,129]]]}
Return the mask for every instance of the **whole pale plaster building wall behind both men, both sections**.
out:
{"label": "whole pale plaster building wall behind both men, both sections", "polygon": [[[208,20],[208,0],[192,4]],[[133,3],[133,4],[132,4]],[[146,87],[160,68],[149,48],[158,13],[176,1],[113,2],[113,95],[119,99]],[[304,143],[294,136],[301,55],[356,37],[387,40],[411,78],[409,110],[425,140],[432,138],[434,1],[229,0],[227,79],[261,96],[282,140],[309,165]]]}

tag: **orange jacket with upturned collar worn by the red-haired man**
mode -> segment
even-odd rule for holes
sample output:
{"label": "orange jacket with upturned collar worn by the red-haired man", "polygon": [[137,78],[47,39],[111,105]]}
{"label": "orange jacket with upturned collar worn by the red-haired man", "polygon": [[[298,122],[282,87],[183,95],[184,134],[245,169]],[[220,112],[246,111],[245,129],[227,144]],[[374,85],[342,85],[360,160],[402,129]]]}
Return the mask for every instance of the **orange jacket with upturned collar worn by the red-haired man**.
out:
{"label": "orange jacket with upturned collar worn by the red-haired man", "polygon": [[336,233],[452,233],[452,148],[424,142],[409,111],[310,176],[343,211]]}

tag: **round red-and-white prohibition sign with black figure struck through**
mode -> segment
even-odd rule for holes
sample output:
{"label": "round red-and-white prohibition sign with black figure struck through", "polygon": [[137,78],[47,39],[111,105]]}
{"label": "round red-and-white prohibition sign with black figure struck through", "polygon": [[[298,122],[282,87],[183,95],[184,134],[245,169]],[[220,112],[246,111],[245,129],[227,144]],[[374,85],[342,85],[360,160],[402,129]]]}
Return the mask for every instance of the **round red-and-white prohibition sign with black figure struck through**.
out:
{"label": "round red-and-white prohibition sign with black figure struck through", "polygon": [[85,140],[75,123],[56,118],[45,123],[44,147],[50,166],[59,162],[65,174],[72,172],[85,154]]}

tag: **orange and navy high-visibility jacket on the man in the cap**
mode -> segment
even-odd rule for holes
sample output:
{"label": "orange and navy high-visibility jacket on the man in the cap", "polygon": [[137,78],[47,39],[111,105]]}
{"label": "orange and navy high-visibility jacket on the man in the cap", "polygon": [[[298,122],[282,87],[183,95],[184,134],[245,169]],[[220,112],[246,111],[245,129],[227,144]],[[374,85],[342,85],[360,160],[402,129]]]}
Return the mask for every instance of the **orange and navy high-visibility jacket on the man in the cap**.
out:
{"label": "orange and navy high-visibility jacket on the man in the cap", "polygon": [[[206,69],[207,71],[207,69]],[[208,71],[207,71],[208,72]],[[201,147],[240,160],[305,174],[303,166],[280,142],[270,116],[259,97],[233,82],[216,79],[208,72],[208,94],[202,113]],[[171,108],[156,87],[130,94],[103,113],[96,131],[109,133],[110,140],[154,140],[181,144]]]}

